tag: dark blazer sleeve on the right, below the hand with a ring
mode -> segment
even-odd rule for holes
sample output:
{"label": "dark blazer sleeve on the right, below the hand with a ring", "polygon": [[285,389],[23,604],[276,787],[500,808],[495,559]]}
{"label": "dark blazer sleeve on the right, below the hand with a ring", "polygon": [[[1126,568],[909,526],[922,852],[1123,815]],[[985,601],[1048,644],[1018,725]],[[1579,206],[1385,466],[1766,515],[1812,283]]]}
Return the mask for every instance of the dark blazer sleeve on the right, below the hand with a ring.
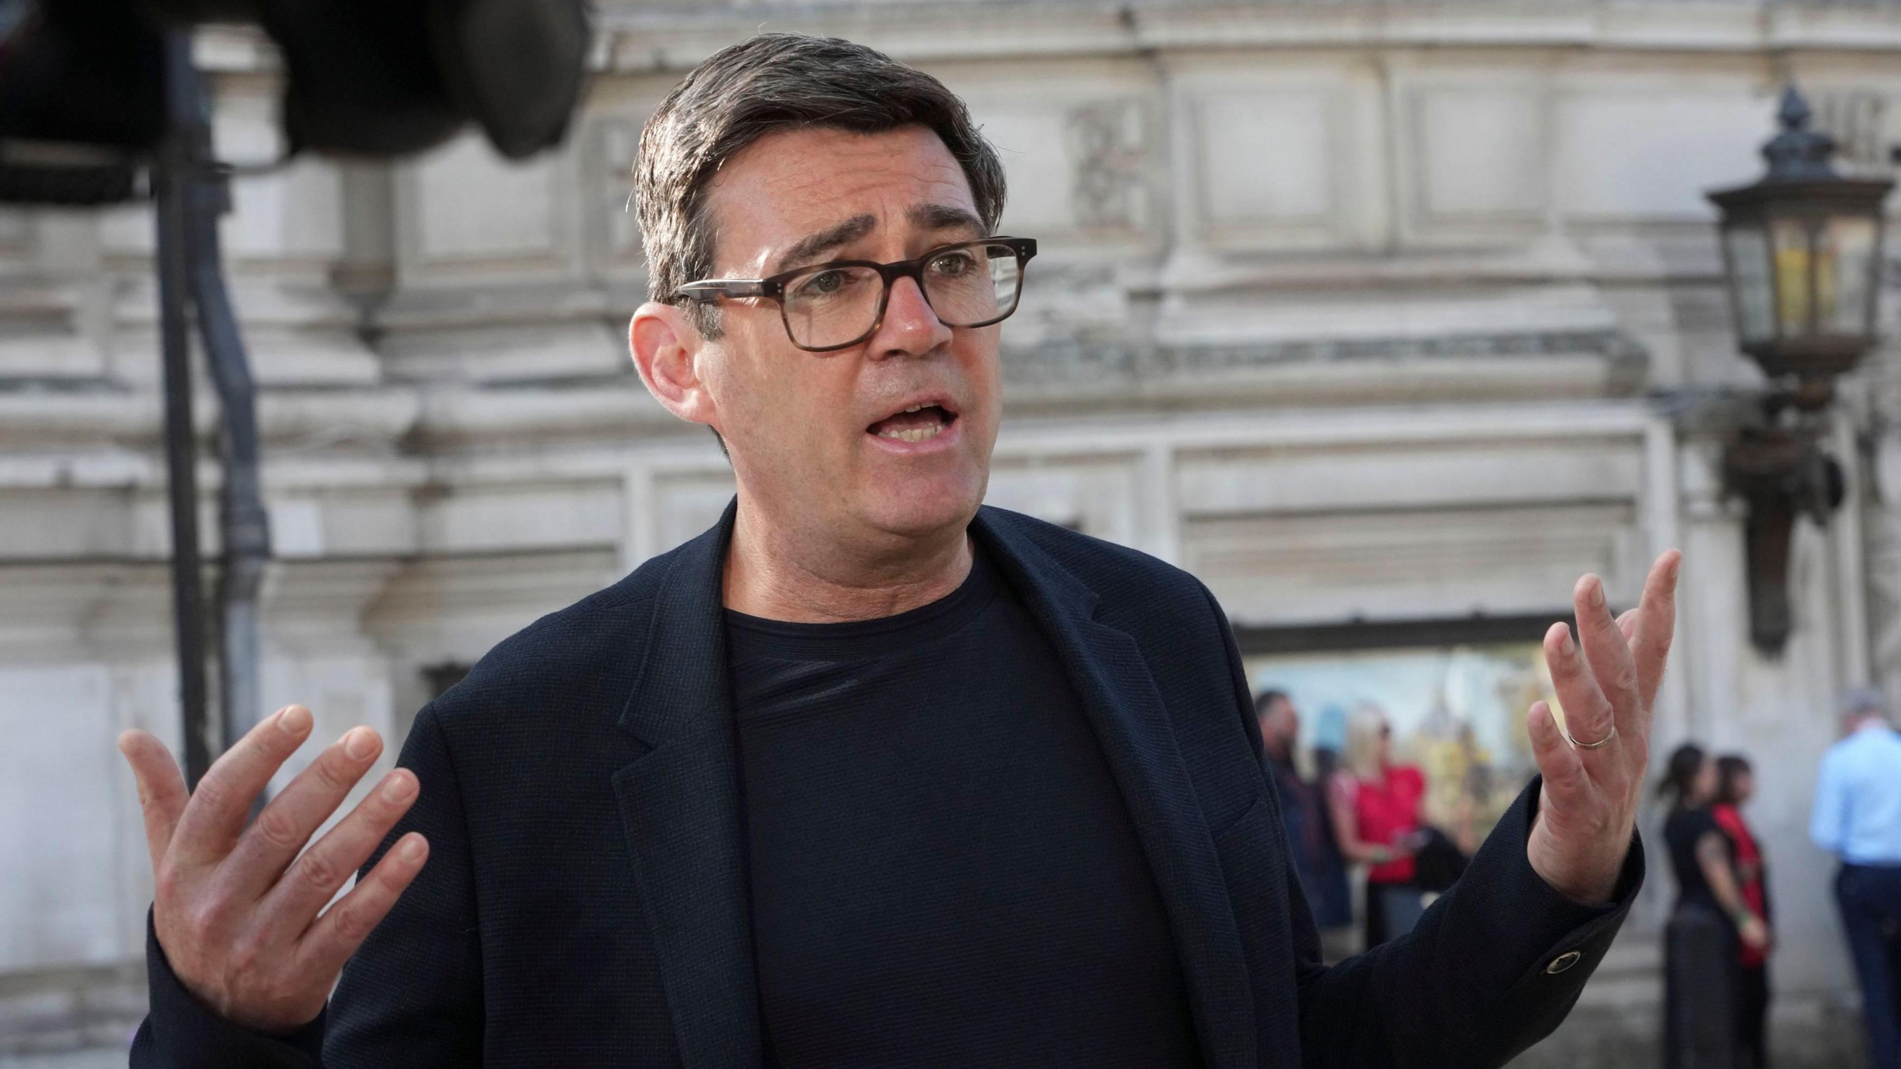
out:
{"label": "dark blazer sleeve on the right, below the hand with a ring", "polygon": [[[1266,774],[1234,632],[1211,593],[1209,605],[1226,645],[1236,709]],[[1293,896],[1302,1065],[1494,1067],[1563,1023],[1637,900],[1644,856],[1633,835],[1608,905],[1578,905],[1557,894],[1525,852],[1538,787],[1532,778],[1411,934],[1335,966],[1321,962],[1319,934],[1281,850]]]}

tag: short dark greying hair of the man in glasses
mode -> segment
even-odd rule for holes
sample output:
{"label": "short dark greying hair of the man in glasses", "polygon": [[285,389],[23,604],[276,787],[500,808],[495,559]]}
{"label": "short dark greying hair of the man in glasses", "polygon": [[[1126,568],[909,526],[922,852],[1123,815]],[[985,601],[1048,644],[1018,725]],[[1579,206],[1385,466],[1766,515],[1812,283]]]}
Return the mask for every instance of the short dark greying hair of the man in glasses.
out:
{"label": "short dark greying hair of the man in glasses", "polygon": [[[1004,215],[1004,164],[964,101],[937,78],[840,38],[760,34],[722,48],[667,93],[633,167],[633,200],[646,243],[646,293],[675,291],[713,270],[705,188],[741,148],[781,129],[884,133],[920,124],[964,167],[985,228]],[[711,306],[694,304],[700,333],[719,337]]]}

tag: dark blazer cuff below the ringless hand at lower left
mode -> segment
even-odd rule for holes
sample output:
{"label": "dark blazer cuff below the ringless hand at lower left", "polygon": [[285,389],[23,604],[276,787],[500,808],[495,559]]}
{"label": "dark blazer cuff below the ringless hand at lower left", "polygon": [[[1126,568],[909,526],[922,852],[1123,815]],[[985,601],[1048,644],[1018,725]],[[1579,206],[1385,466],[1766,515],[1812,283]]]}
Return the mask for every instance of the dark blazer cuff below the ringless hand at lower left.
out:
{"label": "dark blazer cuff below the ringless hand at lower left", "polygon": [[171,972],[165,947],[158,945],[152,911],[144,915],[144,976],[150,1010],[133,1037],[133,1069],[232,1065],[257,1069],[319,1069],[323,1021],[329,1008],[308,1025],[272,1035],[251,1031],[213,1014]]}

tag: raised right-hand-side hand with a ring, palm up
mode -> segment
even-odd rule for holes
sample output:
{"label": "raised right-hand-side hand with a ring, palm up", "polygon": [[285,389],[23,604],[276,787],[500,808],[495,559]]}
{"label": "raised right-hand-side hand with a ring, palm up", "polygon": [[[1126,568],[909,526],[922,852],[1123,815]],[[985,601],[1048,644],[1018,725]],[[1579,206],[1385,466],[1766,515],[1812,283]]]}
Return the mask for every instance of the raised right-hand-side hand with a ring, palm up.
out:
{"label": "raised right-hand-side hand with a ring, palm up", "polygon": [[1572,592],[1582,645],[1565,624],[1546,632],[1544,654],[1570,738],[1551,706],[1532,704],[1528,729],[1544,787],[1525,852],[1547,884],[1576,902],[1610,902],[1631,846],[1650,761],[1650,709],[1677,628],[1680,563],[1675,550],[1658,557],[1642,601],[1616,620],[1603,580],[1584,576]]}

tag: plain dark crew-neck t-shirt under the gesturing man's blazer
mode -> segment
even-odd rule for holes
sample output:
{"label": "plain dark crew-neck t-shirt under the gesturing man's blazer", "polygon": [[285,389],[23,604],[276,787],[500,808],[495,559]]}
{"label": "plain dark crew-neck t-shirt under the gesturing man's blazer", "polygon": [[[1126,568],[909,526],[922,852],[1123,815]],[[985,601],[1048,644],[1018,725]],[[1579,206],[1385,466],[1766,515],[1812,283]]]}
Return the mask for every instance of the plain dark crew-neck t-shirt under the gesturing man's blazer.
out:
{"label": "plain dark crew-neck t-shirt under the gesturing man's blazer", "polygon": [[770,1063],[1198,1061],[1122,795],[981,554],[911,612],[726,635]]}

